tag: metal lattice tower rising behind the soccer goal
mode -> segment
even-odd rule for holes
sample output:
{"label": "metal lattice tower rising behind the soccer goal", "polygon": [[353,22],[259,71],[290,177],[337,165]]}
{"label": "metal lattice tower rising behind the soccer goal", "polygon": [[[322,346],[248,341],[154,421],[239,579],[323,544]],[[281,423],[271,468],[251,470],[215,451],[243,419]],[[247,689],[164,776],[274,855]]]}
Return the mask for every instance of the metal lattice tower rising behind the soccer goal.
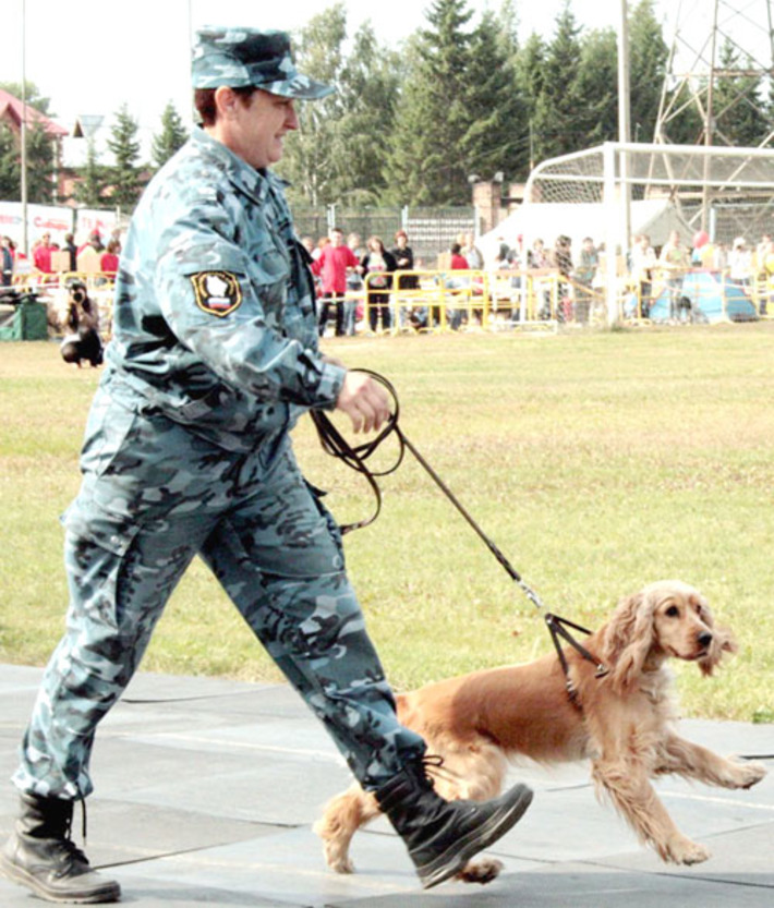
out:
{"label": "metal lattice tower rising behind the soccer goal", "polygon": [[[701,122],[694,145],[730,145],[722,120],[734,108],[765,118],[774,97],[773,7],[774,0],[680,0],[655,142],[674,141],[670,126],[689,109]],[[724,59],[729,51],[730,65]],[[758,144],[774,145],[774,130]]]}

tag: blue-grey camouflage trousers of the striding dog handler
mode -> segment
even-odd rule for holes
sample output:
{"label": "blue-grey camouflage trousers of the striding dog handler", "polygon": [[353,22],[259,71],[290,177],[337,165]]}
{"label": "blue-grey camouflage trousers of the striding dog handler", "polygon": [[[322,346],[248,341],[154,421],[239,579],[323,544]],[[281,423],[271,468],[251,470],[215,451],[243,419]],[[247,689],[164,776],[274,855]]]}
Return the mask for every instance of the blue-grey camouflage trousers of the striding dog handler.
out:
{"label": "blue-grey camouflage trousers of the striding dog handler", "polygon": [[66,628],[24,736],[20,789],[65,799],[92,791],[97,725],[195,555],[365,787],[424,752],[397,721],[338,529],[287,434],[257,453],[231,453],[98,395],[82,469],[81,492],[62,518]]}

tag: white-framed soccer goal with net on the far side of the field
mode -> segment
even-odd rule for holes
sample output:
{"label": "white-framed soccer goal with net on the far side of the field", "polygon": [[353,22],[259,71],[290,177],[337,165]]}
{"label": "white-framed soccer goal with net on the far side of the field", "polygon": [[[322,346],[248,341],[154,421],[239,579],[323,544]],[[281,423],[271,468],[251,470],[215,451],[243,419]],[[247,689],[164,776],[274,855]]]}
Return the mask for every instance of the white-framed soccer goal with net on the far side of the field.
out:
{"label": "white-framed soccer goal with net on the far side of the field", "polygon": [[537,165],[524,189],[525,221],[544,206],[557,206],[549,209],[557,234],[563,217],[580,223],[584,235],[597,230],[607,320],[614,323],[624,314],[633,234],[648,233],[654,247],[672,230],[689,246],[698,231],[729,246],[743,235],[754,246],[774,232],[774,149],[608,142]]}

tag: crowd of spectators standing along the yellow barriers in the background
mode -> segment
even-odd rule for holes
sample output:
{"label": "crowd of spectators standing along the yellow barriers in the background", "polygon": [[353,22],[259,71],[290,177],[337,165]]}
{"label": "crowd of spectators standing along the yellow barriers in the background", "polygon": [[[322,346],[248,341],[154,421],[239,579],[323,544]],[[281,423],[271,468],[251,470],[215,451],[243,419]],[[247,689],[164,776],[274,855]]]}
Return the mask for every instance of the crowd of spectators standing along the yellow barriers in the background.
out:
{"label": "crowd of spectators standing along the yellow barriers in the background", "polygon": [[[331,331],[336,337],[347,337],[358,330],[425,330],[440,325],[457,329],[471,318],[481,322],[481,306],[462,305],[459,301],[465,293],[473,295],[484,269],[491,286],[496,282],[498,288],[507,288],[511,304],[507,317],[511,320],[523,317],[519,301],[524,299],[527,279],[534,281],[544,276],[553,281],[553,290],[545,289],[547,283],[537,284],[537,318],[585,324],[604,308],[605,247],[592,237],[585,237],[576,250],[565,233],[559,233],[551,246],[541,238],[529,246],[522,235],[510,243],[500,238],[494,256],[485,261],[475,237],[461,233],[437,262],[428,264],[414,255],[402,229],[395,233],[389,249],[378,235],[363,241],[358,233],[350,233],[344,240],[344,232],[338,227],[317,241],[305,237],[302,243],[316,281],[321,335]],[[84,276],[88,276],[92,287],[109,286],[118,273],[120,254],[119,231],[107,238],[107,244],[99,231],[92,232],[80,244],[68,233],[61,245],[52,241],[50,232],[44,232],[35,241],[28,261],[10,237],[2,237],[0,283],[12,284],[19,274],[32,275],[44,286],[63,278],[65,289]],[[636,314],[643,319],[651,317],[655,299],[666,290],[668,319],[686,320],[690,301],[681,287],[684,277],[692,269],[723,274],[725,280],[754,299],[760,315],[767,315],[774,305],[774,241],[770,233],[763,233],[757,244],[750,245],[741,235],[727,244],[713,242],[705,231],[698,231],[688,244],[678,231],[672,231],[662,246],[654,246],[646,234],[639,234],[632,238],[621,264],[628,292],[637,299]],[[423,299],[420,275],[428,270],[442,275],[433,280],[436,287],[442,281],[447,291],[443,307],[437,293],[431,293],[430,300]],[[469,277],[465,271],[473,275]],[[500,311],[501,292],[498,290]],[[396,295],[400,298],[398,305]],[[495,299],[495,310],[497,304]],[[58,323],[55,318],[53,324],[61,328],[63,319]]]}

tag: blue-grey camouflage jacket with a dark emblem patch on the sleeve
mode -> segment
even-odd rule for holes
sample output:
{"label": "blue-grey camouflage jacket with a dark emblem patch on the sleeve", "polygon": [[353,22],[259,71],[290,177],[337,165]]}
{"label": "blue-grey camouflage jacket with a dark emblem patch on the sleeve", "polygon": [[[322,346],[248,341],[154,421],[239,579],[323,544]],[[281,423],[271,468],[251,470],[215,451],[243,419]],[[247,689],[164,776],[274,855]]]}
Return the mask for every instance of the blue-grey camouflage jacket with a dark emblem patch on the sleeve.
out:
{"label": "blue-grey camouflage jacket with a dark emblem patch on the sleeve", "polygon": [[281,180],[194,130],[132,218],[102,389],[234,451],[332,407],[305,255]]}

